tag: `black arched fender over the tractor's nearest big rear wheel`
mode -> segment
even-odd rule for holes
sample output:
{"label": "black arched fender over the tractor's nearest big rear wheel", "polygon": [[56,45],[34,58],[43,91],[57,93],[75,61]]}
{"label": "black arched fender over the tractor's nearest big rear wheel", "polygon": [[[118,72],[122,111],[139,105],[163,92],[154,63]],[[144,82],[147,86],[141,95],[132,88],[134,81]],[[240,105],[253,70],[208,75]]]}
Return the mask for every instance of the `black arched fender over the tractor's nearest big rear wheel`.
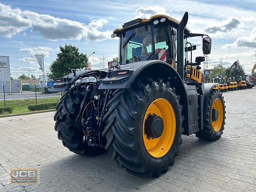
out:
{"label": "black arched fender over the tractor's nearest big rear wheel", "polygon": [[[128,74],[116,75],[117,72],[124,71],[128,71]],[[176,88],[175,94],[180,96],[180,104],[183,106],[182,116],[185,120],[182,127],[185,130],[184,133],[187,134],[188,127],[195,122],[194,120],[192,123],[188,121],[188,92],[191,92],[191,90],[187,90],[188,86],[185,86],[183,79],[170,64],[160,60],[149,60],[121,65],[118,70],[108,71],[108,76],[102,80],[99,89],[129,89],[134,79],[143,75],[151,78],[161,78],[163,82],[169,82],[170,87]],[[195,91],[197,101],[196,86],[190,86],[189,88]]]}

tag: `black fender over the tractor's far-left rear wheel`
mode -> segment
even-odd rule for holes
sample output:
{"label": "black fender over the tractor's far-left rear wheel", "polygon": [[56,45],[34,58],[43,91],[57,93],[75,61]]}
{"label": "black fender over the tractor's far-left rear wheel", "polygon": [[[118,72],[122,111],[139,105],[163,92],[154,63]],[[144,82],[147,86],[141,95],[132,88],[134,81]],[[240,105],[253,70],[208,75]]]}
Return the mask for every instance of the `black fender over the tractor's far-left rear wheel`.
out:
{"label": "black fender over the tractor's far-left rear wheel", "polygon": [[50,92],[68,91],[68,89],[78,80],[89,76],[100,76],[102,79],[107,76],[107,70],[82,70],[76,71],[76,74],[70,73],[62,78],[58,78],[57,82],[53,84]]}

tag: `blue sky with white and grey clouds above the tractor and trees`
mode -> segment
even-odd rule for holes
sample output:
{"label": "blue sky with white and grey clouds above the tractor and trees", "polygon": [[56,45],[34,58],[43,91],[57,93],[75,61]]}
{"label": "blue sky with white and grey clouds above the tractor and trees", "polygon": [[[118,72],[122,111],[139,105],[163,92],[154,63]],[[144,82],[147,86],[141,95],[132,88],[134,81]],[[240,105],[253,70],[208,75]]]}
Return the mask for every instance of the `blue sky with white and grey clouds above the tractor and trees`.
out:
{"label": "blue sky with white and grey clouds above the tractor and trees", "polygon": [[[147,4],[133,0],[0,0],[0,55],[10,56],[14,78],[22,73],[41,75],[34,54],[44,53],[45,71],[49,71],[59,46],[65,44],[76,45],[87,55],[96,52],[89,61],[92,68],[99,68],[103,54],[109,61],[117,56],[117,38],[110,36],[124,22],[156,14],[180,20],[181,12],[188,11],[191,32],[212,37],[209,68],[221,57],[225,66],[239,59],[250,74],[256,62],[255,8],[255,0],[148,0]],[[196,45],[201,41],[198,37],[190,39]],[[198,46],[193,52],[193,60],[202,55],[201,49]]]}

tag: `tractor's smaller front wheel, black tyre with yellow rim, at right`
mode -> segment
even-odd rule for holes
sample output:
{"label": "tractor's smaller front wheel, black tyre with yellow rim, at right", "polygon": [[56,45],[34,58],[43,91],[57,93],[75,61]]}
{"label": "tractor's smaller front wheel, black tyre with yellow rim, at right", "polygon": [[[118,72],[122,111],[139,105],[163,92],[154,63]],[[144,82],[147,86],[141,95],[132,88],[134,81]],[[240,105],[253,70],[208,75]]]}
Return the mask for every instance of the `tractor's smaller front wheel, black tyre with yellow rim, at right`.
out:
{"label": "tractor's smaller front wheel, black tyre with yellow rim, at right", "polygon": [[207,113],[204,115],[204,128],[196,133],[196,137],[204,140],[218,140],[223,134],[226,106],[222,93],[212,90],[208,101]]}

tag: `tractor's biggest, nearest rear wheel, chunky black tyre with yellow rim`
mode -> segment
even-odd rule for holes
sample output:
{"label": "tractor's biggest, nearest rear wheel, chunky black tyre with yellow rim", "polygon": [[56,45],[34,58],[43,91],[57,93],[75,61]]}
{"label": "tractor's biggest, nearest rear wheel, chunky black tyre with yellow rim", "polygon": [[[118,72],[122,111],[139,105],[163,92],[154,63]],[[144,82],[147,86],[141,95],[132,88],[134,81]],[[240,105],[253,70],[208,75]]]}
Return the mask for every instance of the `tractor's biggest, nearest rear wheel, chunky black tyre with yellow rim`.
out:
{"label": "tractor's biggest, nearest rear wheel, chunky black tyre with yellow rim", "polygon": [[[150,78],[137,78],[128,90],[118,90],[109,101],[108,112],[103,118],[106,124],[103,136],[107,137],[105,148],[111,152],[111,159],[128,172],[142,177],[158,177],[167,172],[179,153],[184,131],[179,99],[169,83]],[[159,138],[149,137],[148,128],[145,128],[148,119],[154,116],[163,120]]]}

